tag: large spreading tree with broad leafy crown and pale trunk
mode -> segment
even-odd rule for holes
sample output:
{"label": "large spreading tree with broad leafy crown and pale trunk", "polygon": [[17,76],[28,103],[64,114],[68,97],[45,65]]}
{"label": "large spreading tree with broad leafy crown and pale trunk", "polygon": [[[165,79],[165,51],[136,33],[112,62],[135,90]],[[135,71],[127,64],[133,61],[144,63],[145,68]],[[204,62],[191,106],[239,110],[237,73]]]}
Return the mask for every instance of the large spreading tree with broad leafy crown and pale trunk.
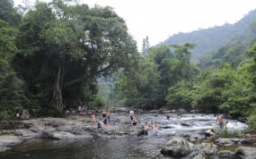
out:
{"label": "large spreading tree with broad leafy crown and pale trunk", "polygon": [[[63,94],[88,79],[136,64],[137,44],[126,22],[109,6],[73,1],[38,2],[22,18],[15,67],[30,90],[52,96],[63,111]],[[72,87],[73,86],[73,87]]]}

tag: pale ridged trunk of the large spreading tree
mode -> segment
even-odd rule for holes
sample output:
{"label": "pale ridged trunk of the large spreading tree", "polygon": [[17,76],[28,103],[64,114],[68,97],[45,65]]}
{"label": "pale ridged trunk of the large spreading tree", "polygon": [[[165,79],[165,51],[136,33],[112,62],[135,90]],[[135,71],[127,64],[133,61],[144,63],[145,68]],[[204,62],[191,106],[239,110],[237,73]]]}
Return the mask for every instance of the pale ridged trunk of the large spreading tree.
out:
{"label": "pale ridged trunk of the large spreading tree", "polygon": [[63,68],[62,64],[59,65],[57,71],[57,79],[55,87],[53,89],[53,106],[56,107],[57,111],[62,113],[63,111],[63,102],[62,102],[62,82],[63,82]]}

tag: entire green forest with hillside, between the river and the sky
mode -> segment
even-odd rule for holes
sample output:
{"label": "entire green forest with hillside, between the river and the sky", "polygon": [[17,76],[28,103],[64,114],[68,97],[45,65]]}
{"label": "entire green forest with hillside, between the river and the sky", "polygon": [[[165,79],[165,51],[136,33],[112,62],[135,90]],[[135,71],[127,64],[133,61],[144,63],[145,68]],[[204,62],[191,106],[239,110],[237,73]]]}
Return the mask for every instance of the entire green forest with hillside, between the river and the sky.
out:
{"label": "entire green forest with hillside, between the river and the sky", "polygon": [[0,70],[0,120],[112,105],[229,113],[255,129],[256,10],[157,46],[146,37],[139,52],[110,6],[2,0]]}

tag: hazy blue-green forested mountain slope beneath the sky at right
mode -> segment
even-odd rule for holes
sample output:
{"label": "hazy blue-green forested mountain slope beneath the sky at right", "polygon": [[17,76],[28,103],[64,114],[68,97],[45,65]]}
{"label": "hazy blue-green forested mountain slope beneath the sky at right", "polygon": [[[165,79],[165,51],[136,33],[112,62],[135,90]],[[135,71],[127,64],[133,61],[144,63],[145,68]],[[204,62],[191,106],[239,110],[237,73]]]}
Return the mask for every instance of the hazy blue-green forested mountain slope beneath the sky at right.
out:
{"label": "hazy blue-green forested mountain slope beneath the sky at right", "polygon": [[243,19],[234,24],[225,23],[223,26],[199,29],[189,33],[179,32],[156,46],[183,45],[186,42],[194,43],[197,46],[191,51],[191,56],[192,58],[199,59],[211,51],[224,46],[226,42],[234,37],[240,37],[241,40],[248,41],[248,36],[252,38],[255,35],[249,28],[252,21],[256,21],[256,10],[244,15]]}

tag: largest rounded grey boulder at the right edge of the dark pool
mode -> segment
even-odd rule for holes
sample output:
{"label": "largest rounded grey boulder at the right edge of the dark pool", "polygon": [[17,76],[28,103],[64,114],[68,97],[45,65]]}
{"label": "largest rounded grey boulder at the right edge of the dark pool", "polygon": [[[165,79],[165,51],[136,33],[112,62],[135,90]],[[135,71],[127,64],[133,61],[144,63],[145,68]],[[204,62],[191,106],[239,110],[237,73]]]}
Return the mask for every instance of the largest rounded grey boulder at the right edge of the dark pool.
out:
{"label": "largest rounded grey boulder at the right edge of the dark pool", "polygon": [[193,151],[193,144],[181,137],[171,137],[161,149],[163,155],[182,156],[190,155]]}

